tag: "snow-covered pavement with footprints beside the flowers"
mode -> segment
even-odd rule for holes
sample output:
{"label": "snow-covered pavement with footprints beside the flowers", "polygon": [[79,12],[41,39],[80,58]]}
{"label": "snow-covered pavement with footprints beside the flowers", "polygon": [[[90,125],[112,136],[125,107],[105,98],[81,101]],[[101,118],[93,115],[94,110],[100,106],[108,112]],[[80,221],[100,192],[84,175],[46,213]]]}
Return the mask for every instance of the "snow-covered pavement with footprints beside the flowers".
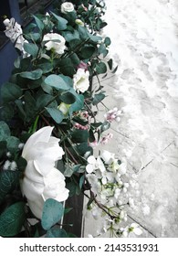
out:
{"label": "snow-covered pavement with footprints beside the flowers", "polygon": [[[178,237],[178,1],[105,2],[104,34],[119,64],[103,81],[106,105],[123,111],[108,146],[127,159],[136,184],[129,215],[147,230],[143,236]],[[86,236],[97,225],[90,227]]]}

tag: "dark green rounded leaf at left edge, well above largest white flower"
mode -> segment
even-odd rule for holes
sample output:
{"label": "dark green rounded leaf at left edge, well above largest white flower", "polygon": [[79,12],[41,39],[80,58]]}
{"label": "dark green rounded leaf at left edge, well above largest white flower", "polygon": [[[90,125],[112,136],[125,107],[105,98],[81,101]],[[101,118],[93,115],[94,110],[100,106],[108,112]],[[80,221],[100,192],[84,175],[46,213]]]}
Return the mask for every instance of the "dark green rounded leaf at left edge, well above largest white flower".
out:
{"label": "dark green rounded leaf at left edge, well above largest white flower", "polygon": [[15,83],[5,82],[1,88],[3,102],[15,101],[22,96],[22,90]]}

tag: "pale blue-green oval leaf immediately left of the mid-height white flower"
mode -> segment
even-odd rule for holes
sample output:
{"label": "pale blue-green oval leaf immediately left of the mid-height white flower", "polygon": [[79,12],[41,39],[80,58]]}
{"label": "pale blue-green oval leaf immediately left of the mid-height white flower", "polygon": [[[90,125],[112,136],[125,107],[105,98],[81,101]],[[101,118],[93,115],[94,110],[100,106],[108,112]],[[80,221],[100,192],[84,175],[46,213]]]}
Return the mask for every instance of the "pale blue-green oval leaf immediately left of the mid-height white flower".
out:
{"label": "pale blue-green oval leaf immediately left of the mid-height white flower", "polygon": [[51,87],[54,87],[58,90],[64,90],[67,91],[70,89],[68,86],[68,83],[61,75],[49,75],[45,82],[50,85]]}

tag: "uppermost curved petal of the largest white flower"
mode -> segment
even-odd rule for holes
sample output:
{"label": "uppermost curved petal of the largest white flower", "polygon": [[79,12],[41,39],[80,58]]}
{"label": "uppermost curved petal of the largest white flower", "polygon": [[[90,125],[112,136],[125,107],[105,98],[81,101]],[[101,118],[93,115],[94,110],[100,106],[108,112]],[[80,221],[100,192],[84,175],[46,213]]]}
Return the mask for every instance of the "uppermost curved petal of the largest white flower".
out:
{"label": "uppermost curved petal of the largest white flower", "polygon": [[53,130],[53,127],[46,126],[39,129],[36,133],[32,134],[24,146],[22,156],[26,158],[27,153],[30,150],[32,150],[34,145],[36,145],[38,142],[47,143],[49,141],[52,130]]}

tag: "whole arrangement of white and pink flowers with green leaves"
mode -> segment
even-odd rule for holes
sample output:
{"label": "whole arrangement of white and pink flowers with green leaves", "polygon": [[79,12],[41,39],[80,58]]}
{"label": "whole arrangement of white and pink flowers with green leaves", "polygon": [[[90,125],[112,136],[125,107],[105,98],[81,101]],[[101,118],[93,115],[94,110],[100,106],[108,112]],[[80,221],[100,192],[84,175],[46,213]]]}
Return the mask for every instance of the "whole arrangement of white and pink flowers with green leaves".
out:
{"label": "whole arrangement of white and pink flowers with green leaves", "polygon": [[106,95],[100,83],[92,88],[93,77],[116,70],[105,60],[110,38],[100,34],[105,8],[97,0],[58,2],[50,13],[33,16],[24,31],[5,18],[5,35],[19,57],[1,89],[0,236],[74,236],[63,226],[72,210],[64,202],[80,193],[93,217],[104,219],[100,233],[141,234],[135,223],[122,227],[124,208],[132,204],[126,163],[108,151],[93,155],[121,116],[114,108],[98,122],[96,109]]}

